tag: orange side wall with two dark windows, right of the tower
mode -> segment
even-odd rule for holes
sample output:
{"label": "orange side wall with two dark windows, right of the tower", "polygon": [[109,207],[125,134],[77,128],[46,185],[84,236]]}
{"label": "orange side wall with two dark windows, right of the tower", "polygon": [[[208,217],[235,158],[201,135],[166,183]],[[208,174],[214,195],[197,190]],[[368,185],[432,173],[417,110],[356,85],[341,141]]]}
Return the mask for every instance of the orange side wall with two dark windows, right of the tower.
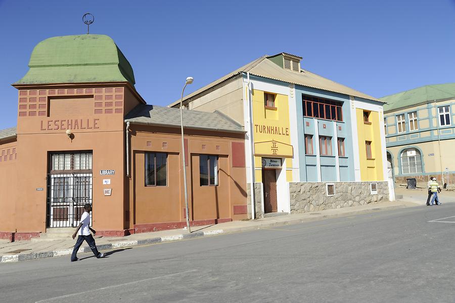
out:
{"label": "orange side wall with two dark windows, right of the tower", "polygon": [[[131,149],[134,162],[132,163],[130,185],[132,198],[130,200],[132,216],[130,228],[133,224],[185,221],[179,129],[141,125],[132,125],[131,128]],[[185,133],[185,138],[189,140],[189,153],[191,154],[191,157],[187,158],[190,219],[246,219],[246,213],[234,214],[233,211],[234,205],[246,205],[245,167],[234,168],[231,160],[231,142],[243,142],[243,134],[214,134],[214,132],[189,130],[186,130]],[[166,144],[163,145],[163,143]],[[217,146],[218,149],[216,149]],[[167,186],[145,186],[145,152],[168,154]],[[219,186],[200,186],[199,154],[219,155]]]}

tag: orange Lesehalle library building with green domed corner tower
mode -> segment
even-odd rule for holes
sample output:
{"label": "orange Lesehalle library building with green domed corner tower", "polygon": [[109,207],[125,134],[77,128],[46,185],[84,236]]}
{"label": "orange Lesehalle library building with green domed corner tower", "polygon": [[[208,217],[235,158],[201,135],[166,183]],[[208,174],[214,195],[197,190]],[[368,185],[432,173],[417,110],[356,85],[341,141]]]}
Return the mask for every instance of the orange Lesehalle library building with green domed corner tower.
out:
{"label": "orange Lesehalle library building with green domed corner tower", "polygon": [[[49,38],[29,67],[0,131],[0,238],[77,226],[85,203],[102,235],[184,227],[180,111],[146,104],[114,41]],[[242,126],[184,111],[184,128],[191,224],[246,219]]]}

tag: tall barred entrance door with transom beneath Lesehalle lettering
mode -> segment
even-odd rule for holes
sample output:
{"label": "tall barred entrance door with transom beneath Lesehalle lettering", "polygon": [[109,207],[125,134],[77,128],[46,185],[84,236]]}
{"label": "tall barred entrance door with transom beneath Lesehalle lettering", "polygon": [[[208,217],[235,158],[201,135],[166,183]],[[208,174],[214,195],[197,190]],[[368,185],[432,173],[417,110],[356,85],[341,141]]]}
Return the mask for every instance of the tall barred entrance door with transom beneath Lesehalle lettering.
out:
{"label": "tall barred entrance door with transom beneath Lesehalle lettering", "polygon": [[93,200],[92,152],[52,153],[49,163],[47,227],[76,227]]}

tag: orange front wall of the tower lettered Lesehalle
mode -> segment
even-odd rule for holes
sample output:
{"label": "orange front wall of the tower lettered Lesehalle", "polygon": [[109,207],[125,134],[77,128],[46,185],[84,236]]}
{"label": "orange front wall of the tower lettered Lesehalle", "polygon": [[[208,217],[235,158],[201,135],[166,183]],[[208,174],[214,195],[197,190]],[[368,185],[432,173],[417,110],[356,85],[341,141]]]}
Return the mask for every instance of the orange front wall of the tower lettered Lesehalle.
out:
{"label": "orange front wall of the tower lettered Lesehalle", "polygon": [[[138,103],[130,97],[124,99],[128,86],[49,85],[18,89],[17,150],[21,158],[17,162],[17,180],[21,188],[15,211],[17,231],[45,231],[49,153],[79,150],[93,151],[93,227],[100,231],[127,227],[123,108]],[[80,105],[82,96],[84,102]],[[51,108],[59,99],[65,103],[66,113],[61,106],[56,111]],[[72,120],[72,140],[65,134],[68,120]],[[115,175],[102,176],[101,169],[114,169]],[[111,179],[111,185],[103,185],[103,179]],[[104,196],[104,188],[112,188],[112,195]]]}

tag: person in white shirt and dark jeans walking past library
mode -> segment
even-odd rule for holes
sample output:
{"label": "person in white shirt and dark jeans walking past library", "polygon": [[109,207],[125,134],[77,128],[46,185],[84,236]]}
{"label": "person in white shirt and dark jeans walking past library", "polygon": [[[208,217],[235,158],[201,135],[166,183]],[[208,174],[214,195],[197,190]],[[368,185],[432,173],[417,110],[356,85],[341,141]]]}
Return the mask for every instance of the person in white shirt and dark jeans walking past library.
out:
{"label": "person in white shirt and dark jeans walking past library", "polygon": [[96,234],[96,231],[89,227],[90,225],[90,211],[92,211],[92,205],[90,204],[85,204],[84,205],[84,213],[82,213],[82,216],[80,218],[80,223],[79,226],[77,227],[76,231],[73,234],[73,239],[77,237],[76,245],[74,245],[73,253],[71,254],[71,262],[74,261],[79,261],[79,258],[77,257],[77,251],[79,250],[80,245],[82,243],[87,242],[88,246],[90,246],[90,249],[92,249],[93,253],[97,258],[104,258],[104,253],[101,253],[97,249],[97,245],[95,244],[95,239],[93,238],[92,234],[90,234],[90,231],[93,232],[93,234]]}

